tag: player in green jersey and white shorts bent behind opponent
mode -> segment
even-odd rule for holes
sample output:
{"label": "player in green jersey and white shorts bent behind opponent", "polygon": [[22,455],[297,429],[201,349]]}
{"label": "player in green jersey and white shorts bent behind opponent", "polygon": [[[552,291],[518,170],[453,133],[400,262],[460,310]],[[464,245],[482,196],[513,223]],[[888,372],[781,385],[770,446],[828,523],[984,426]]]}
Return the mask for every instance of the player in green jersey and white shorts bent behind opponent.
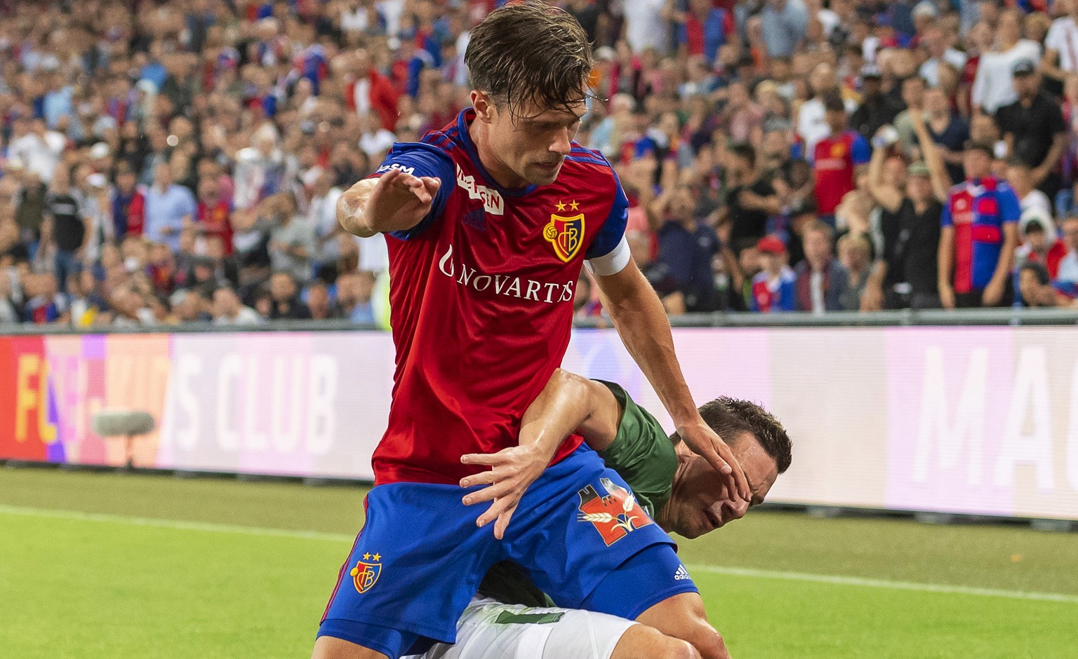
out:
{"label": "player in green jersey and white shorts bent behind opponent", "polygon": [[[778,474],[790,465],[790,439],[771,413],[747,401],[716,398],[700,408],[704,421],[730,444],[745,471],[751,499],[745,501],[716,478],[714,469],[667,436],[650,412],[612,382],[557,370],[524,416],[521,445],[494,455],[466,455],[492,469],[470,476],[465,486],[488,485],[470,503],[495,502],[484,523],[508,524],[514,483],[523,478],[519,453],[549,450],[572,432],[598,451],[632,492],[604,483],[606,493],[580,494],[576,523],[595,525],[609,544],[635,529],[658,523],[666,531],[697,537],[740,519],[763,502]],[[633,516],[638,503],[650,518]],[[653,521],[652,521],[653,519]],[[497,527],[496,527],[497,528]],[[505,525],[501,525],[505,530]],[[679,565],[675,578],[689,578]],[[640,577],[647,587],[647,575]],[[438,644],[423,659],[636,659],[699,656],[687,643],[614,616],[557,608],[514,563],[498,563],[460,617],[455,645]],[[418,656],[416,656],[418,657]]]}

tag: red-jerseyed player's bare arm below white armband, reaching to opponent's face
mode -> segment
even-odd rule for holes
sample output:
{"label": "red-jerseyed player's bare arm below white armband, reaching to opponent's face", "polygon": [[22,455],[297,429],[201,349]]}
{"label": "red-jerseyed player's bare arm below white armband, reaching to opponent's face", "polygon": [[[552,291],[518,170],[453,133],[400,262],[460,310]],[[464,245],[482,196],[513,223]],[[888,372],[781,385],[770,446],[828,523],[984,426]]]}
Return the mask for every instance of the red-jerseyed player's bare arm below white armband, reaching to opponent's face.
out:
{"label": "red-jerseyed player's bare arm below white armband, reaching to opponent's face", "polygon": [[692,402],[674,353],[669,320],[651,284],[632,261],[614,275],[596,275],[595,281],[622,342],[659,394],[678,435],[693,452],[727,475],[732,490],[747,501],[751,494],[745,472]]}

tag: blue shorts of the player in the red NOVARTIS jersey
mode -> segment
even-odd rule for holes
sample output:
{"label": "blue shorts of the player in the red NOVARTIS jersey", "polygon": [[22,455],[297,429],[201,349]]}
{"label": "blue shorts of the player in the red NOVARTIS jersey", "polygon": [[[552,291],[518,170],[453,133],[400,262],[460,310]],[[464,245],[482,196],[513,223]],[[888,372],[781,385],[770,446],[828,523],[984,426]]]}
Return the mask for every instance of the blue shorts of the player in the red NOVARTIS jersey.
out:
{"label": "blue shorts of the player in the red NOVARTIS jersey", "polygon": [[548,467],[528,488],[502,541],[490,525],[475,525],[485,504],[464,505],[465,492],[416,482],[372,489],[367,521],[341,567],[318,635],[390,659],[434,642],[453,643],[480,580],[505,559],[526,567],[558,606],[630,619],[666,598],[696,591],[677,574],[674,541],[586,447]]}

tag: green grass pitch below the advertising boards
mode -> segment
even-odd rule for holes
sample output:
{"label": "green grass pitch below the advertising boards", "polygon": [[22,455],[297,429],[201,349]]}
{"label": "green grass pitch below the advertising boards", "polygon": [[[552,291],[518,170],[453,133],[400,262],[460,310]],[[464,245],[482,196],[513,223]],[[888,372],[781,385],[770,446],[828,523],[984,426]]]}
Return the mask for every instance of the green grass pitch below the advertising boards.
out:
{"label": "green grass pitch below the advertising boards", "polygon": [[[363,490],[0,467],[0,657],[309,657]],[[1078,536],[754,511],[681,553],[735,658],[1078,657]]]}

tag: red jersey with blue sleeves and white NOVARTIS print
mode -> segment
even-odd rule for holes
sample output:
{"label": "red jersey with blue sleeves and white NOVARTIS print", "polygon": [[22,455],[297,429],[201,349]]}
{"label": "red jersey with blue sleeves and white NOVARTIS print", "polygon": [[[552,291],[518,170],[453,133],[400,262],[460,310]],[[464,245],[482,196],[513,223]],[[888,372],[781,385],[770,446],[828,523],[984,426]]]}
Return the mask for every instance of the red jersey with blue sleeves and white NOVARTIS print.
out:
{"label": "red jersey with blue sleeves and white NOVARTIS print", "polygon": [[[483,169],[465,110],[421,142],[399,143],[374,176],[442,181],[431,212],[387,236],[397,346],[389,426],[374,451],[378,483],[456,483],[465,453],[517,441],[524,410],[562,363],[585,258],[628,262],[628,202],[610,164],[573,144],[557,181],[507,190]],[[561,460],[581,439],[567,439]]]}

